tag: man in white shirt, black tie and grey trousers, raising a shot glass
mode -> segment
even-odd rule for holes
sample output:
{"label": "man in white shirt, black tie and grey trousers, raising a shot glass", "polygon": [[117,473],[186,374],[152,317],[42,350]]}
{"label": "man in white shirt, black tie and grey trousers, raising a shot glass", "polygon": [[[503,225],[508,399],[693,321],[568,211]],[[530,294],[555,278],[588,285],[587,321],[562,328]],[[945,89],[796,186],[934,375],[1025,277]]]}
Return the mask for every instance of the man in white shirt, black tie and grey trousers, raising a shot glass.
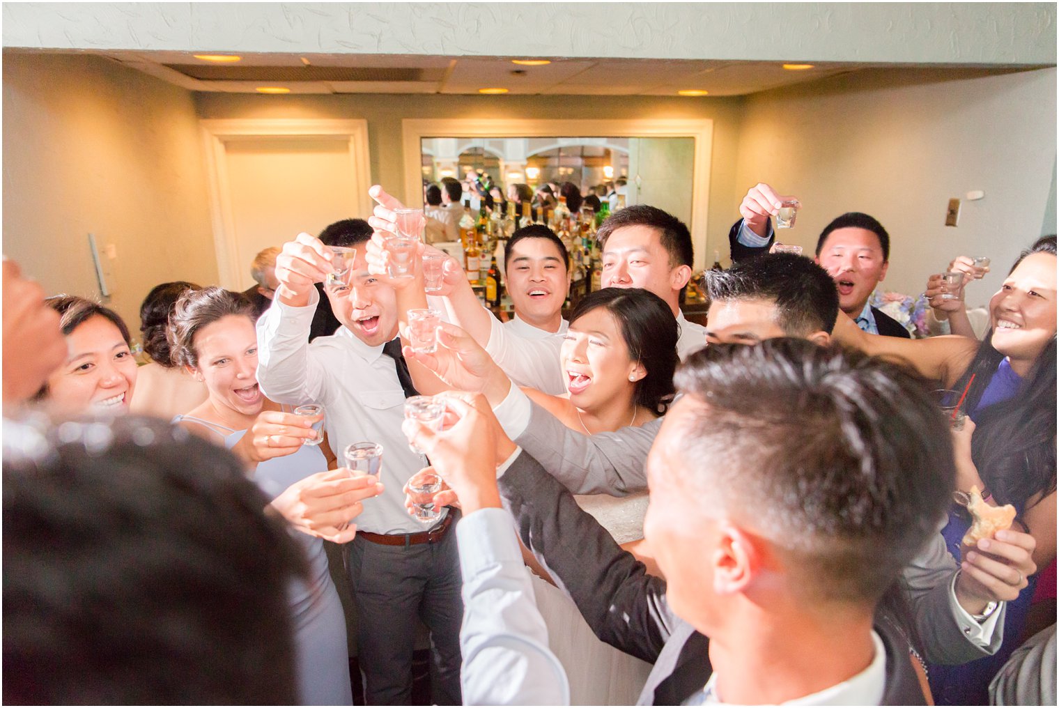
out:
{"label": "man in white shirt, black tie and grey trousers, raising a shot glass", "polygon": [[[401,488],[427,464],[401,435],[411,392],[400,357],[396,296],[367,272],[357,229],[331,232],[324,244],[307,233],[284,244],[276,259],[275,300],[257,322],[257,380],[273,401],[326,408],[327,436],[340,462],[346,445],[381,443],[384,491],[364,503],[357,535],[345,549],[357,607],[357,647],[369,705],[411,703],[412,651],[419,619],[431,631],[432,702],[460,705],[457,635],[463,605],[452,513],[429,529],[405,512]],[[327,246],[357,256],[341,282],[325,288],[342,326],[307,341],[319,299],[315,283],[331,272]]]}

